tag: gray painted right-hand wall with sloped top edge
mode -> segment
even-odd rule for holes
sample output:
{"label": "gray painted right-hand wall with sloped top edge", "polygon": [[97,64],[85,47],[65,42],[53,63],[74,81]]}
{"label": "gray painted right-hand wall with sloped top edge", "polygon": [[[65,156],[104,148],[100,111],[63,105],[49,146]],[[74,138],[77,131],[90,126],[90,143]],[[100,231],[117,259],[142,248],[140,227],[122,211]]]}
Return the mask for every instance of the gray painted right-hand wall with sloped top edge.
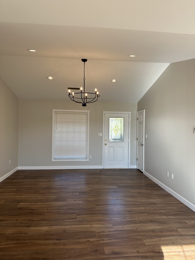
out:
{"label": "gray painted right-hand wall with sloped top edge", "polygon": [[170,64],[138,102],[142,109],[144,170],[195,205],[195,59]]}

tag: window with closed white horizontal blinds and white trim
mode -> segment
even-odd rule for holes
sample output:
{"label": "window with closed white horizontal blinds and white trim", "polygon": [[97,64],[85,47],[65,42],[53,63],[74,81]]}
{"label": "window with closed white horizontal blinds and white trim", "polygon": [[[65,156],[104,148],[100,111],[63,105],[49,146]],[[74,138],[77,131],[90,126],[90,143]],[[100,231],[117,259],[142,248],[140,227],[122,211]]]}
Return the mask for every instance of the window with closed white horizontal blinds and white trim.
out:
{"label": "window with closed white horizontal blinds and white trim", "polygon": [[52,111],[52,161],[88,161],[89,110]]}

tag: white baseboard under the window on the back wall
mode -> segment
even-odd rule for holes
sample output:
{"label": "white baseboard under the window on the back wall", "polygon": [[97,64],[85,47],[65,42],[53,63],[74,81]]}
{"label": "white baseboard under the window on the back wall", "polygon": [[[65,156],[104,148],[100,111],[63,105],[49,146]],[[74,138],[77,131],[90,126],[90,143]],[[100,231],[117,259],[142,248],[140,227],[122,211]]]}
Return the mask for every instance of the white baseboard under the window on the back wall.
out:
{"label": "white baseboard under the window on the back wall", "polygon": [[102,169],[102,165],[89,166],[19,166],[19,170],[65,170],[65,169]]}

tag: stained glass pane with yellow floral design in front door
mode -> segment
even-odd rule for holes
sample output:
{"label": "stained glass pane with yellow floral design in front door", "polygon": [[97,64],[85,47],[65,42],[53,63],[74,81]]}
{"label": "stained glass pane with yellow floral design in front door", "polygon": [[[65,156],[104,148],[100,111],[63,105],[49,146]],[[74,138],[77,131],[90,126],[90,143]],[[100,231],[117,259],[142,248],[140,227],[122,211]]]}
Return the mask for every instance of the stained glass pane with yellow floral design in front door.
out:
{"label": "stained glass pane with yellow floral design in front door", "polygon": [[124,142],[124,117],[109,118],[109,142]]}

